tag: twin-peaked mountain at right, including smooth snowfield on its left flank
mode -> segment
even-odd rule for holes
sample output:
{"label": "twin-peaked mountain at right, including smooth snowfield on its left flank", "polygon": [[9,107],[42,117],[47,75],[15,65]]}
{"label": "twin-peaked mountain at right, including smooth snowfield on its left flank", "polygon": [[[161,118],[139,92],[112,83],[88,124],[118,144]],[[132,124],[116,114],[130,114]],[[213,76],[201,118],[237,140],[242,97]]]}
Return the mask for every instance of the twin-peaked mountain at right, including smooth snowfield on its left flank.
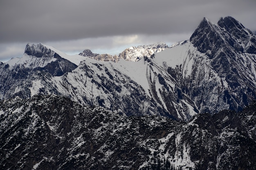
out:
{"label": "twin-peaked mountain at right, including smooth snowfield on its left flank", "polygon": [[174,79],[179,99],[190,99],[200,113],[239,111],[256,99],[255,38],[234,18],[220,18],[218,25],[204,18],[190,41],[153,60]]}

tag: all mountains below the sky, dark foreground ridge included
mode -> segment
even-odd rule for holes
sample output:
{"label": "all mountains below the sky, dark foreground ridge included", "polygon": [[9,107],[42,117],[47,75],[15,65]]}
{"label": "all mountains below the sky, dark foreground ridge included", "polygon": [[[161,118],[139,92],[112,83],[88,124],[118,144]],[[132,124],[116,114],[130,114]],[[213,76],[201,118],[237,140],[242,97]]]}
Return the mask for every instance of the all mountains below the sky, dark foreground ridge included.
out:
{"label": "all mountains below the sky, dark foreground ridge included", "polygon": [[27,44],[0,99],[4,170],[256,169],[256,34],[230,16],[114,56]]}

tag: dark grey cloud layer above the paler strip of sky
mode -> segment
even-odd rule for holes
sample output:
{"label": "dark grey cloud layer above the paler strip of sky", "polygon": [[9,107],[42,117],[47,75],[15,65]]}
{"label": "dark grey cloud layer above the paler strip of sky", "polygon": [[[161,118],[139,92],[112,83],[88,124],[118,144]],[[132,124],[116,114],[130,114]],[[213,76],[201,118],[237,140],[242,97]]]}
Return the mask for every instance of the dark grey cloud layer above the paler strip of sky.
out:
{"label": "dark grey cloud layer above the paler strip of sky", "polygon": [[193,32],[204,16],[223,14],[248,16],[240,22],[256,29],[255,7],[255,0],[8,0],[0,5],[0,42]]}

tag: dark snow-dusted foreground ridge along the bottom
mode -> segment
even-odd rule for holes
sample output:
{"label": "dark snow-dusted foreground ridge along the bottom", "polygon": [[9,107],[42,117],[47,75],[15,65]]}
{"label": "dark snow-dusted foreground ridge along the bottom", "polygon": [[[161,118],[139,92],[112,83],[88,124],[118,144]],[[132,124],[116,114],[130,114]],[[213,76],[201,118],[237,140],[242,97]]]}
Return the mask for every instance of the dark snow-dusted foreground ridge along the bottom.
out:
{"label": "dark snow-dusted foreground ridge along the bottom", "polygon": [[256,103],[183,123],[57,95],[16,97],[0,101],[0,151],[4,170],[253,170]]}

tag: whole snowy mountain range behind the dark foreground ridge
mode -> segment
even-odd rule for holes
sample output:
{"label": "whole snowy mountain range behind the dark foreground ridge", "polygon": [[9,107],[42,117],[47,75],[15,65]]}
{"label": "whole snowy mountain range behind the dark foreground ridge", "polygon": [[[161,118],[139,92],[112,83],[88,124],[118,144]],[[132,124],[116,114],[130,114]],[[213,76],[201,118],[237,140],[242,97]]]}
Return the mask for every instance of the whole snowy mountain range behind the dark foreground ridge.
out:
{"label": "whole snowy mountain range behind the dark foreground ridge", "polygon": [[218,24],[204,18],[190,40],[171,48],[160,43],[126,49],[116,63],[94,60],[99,55],[89,50],[83,55],[90,57],[70,56],[28,44],[21,58],[0,64],[0,97],[64,95],[127,116],[184,121],[198,113],[239,111],[256,99],[255,40],[226,17]]}

